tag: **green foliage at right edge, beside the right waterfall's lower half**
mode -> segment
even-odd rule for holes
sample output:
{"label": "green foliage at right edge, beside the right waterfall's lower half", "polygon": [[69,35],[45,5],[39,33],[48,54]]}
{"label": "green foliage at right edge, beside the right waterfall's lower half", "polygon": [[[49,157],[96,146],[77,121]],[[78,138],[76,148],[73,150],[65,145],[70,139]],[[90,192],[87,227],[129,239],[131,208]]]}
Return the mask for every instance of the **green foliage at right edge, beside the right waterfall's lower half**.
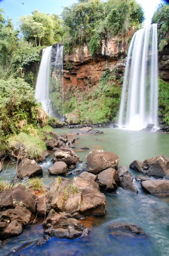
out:
{"label": "green foliage at right edge, beside the right waterfall's lower half", "polygon": [[169,125],[169,83],[159,79],[158,105],[161,108],[159,114]]}

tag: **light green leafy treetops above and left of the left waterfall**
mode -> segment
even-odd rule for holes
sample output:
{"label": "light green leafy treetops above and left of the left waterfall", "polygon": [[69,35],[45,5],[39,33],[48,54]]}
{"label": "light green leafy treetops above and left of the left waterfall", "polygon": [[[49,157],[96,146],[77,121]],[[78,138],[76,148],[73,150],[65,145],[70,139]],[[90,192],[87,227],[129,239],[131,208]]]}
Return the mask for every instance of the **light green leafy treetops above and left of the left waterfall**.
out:
{"label": "light green leafy treetops above and left of the left waterfall", "polygon": [[31,15],[20,17],[20,30],[26,41],[35,47],[57,43],[62,37],[62,21],[58,15],[35,10]]}

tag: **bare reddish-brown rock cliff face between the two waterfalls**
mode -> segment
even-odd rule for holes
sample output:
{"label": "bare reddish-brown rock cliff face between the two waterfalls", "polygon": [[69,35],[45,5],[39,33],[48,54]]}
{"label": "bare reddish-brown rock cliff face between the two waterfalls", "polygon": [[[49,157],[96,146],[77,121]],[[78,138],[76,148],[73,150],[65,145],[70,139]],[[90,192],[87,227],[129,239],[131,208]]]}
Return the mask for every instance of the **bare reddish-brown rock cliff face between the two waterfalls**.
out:
{"label": "bare reddish-brown rock cliff face between the two waterfalls", "polygon": [[129,41],[135,30],[131,29],[121,38],[116,36],[101,41],[101,47],[95,58],[92,58],[87,45],[73,48],[70,55],[64,58],[64,92],[74,87],[84,92],[87,86],[98,84],[101,74],[106,68],[115,70],[116,79],[121,79],[125,69],[125,60]]}

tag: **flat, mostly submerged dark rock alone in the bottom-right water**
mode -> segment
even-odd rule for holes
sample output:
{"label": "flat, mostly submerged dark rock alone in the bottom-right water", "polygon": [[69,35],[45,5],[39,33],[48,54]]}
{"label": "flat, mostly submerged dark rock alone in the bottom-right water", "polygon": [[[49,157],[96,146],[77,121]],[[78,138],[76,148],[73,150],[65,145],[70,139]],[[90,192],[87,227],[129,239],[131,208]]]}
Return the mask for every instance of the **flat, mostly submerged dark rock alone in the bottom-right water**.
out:
{"label": "flat, mostly submerged dark rock alone in the bottom-right water", "polygon": [[135,233],[137,235],[144,234],[144,230],[141,229],[141,227],[138,227],[134,224],[129,223],[112,223],[108,226],[109,230],[117,229],[117,228],[125,228],[127,230],[130,230],[132,233]]}

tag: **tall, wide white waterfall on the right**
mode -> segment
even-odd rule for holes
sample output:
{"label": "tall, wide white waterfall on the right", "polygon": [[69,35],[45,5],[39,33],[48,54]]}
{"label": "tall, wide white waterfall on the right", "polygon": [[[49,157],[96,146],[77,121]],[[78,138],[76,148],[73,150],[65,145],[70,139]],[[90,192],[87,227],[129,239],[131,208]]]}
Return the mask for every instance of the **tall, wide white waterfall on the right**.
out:
{"label": "tall, wide white waterfall on the right", "polygon": [[118,124],[132,130],[158,126],[157,24],[138,30],[127,54]]}

